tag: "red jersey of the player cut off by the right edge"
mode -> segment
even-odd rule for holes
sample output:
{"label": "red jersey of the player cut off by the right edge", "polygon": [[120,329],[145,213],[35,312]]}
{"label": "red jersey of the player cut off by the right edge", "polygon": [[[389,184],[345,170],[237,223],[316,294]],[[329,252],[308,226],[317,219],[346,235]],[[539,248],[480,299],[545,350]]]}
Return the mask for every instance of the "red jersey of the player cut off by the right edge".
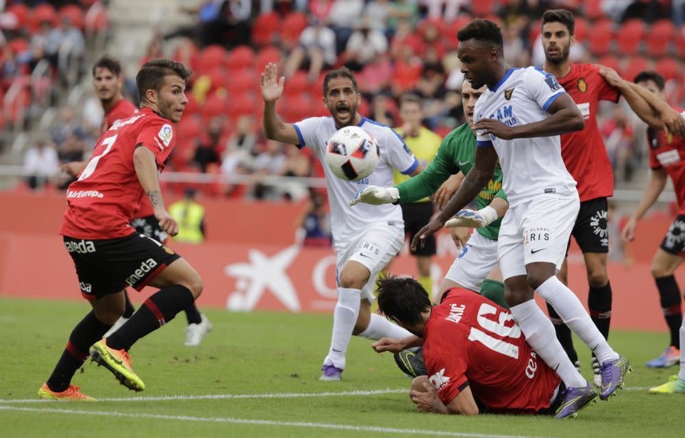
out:
{"label": "red jersey of the player cut off by the right edge", "polygon": [[[677,109],[676,109],[677,110]],[[682,112],[682,110],[677,110]],[[682,112],[685,116],[685,112]],[[685,138],[672,133],[647,129],[649,166],[663,168],[673,180],[678,214],[685,214]]]}

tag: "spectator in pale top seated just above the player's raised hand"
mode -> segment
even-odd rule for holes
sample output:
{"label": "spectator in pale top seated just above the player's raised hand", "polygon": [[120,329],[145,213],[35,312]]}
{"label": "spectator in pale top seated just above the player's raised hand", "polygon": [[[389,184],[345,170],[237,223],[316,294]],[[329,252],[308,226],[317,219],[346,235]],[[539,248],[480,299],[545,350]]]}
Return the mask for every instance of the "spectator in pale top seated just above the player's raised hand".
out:
{"label": "spectator in pale top seated just above the player's raised hand", "polygon": [[292,76],[299,68],[306,66],[310,81],[319,77],[323,68],[336,64],[336,34],[322,21],[312,18],[312,25],[302,31],[299,45],[290,52],[284,75]]}

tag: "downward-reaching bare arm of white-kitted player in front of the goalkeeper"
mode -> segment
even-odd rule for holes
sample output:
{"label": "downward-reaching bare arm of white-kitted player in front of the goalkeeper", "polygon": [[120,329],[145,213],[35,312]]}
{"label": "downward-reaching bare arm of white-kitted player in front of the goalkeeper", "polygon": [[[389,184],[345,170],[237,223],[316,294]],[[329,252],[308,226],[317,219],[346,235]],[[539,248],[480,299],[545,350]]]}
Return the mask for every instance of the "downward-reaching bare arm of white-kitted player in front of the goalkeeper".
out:
{"label": "downward-reaching bare arm of white-kitted player in front of the goalkeeper", "polygon": [[429,224],[423,227],[419,233],[414,235],[412,239],[412,248],[416,250],[417,246],[423,242],[429,235],[437,233],[445,226],[445,222],[449,220],[457,211],[466,207],[468,203],[473,201],[478,193],[483,190],[483,187],[490,181],[495,174],[495,166],[497,166],[497,152],[493,146],[477,147],[475,151],[474,166],[466,175],[460,185],[459,190],[452,197],[451,201],[447,203],[443,211],[440,211],[438,216],[434,218]]}

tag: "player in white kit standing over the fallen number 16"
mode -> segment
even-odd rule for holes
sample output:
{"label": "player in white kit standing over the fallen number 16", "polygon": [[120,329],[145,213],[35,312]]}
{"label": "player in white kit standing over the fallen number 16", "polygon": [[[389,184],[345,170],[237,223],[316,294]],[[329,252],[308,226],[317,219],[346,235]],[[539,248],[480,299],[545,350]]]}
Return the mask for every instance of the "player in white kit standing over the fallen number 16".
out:
{"label": "player in white kit standing over the fallen number 16", "polygon": [[441,229],[477,195],[493,175],[499,155],[510,204],[497,246],[505,298],[530,345],[568,387],[560,412],[572,415],[592,402],[597,391],[565,354],[551,322],[533,300],[534,290],[595,352],[601,364],[600,398],[608,398],[621,387],[630,370],[627,360],[599,333],[580,300],[556,277],[580,207],[575,181],[561,157],[559,135],[583,129],[583,116],[552,75],[534,67],[509,68],[495,23],[474,20],[460,29],[457,38],[464,77],[473,87],[488,86],[475,106],[479,146],[475,167],[412,244],[419,243],[423,234]]}

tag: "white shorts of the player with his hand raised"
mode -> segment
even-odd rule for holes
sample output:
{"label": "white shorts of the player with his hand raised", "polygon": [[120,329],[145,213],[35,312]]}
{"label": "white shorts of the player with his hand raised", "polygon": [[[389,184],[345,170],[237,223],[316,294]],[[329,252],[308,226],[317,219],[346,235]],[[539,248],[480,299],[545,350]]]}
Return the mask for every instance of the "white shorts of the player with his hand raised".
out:
{"label": "white shorts of the player with his hand raised", "polygon": [[371,271],[369,281],[362,287],[362,299],[373,302],[373,287],[376,276],[399,253],[404,244],[403,222],[383,223],[369,228],[345,242],[336,242],[336,283],[345,263],[350,260],[362,263]]}

